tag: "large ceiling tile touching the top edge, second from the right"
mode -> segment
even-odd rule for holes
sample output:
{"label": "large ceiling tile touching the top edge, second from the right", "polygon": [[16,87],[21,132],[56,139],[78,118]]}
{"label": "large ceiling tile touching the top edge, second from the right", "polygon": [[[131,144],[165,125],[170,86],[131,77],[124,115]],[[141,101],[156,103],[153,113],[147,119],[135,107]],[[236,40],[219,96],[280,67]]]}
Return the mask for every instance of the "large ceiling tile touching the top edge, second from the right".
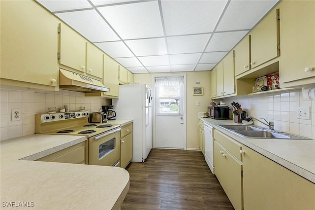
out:
{"label": "large ceiling tile touching the top edge, second from the right", "polygon": [[162,0],[166,35],[213,32],[227,0]]}

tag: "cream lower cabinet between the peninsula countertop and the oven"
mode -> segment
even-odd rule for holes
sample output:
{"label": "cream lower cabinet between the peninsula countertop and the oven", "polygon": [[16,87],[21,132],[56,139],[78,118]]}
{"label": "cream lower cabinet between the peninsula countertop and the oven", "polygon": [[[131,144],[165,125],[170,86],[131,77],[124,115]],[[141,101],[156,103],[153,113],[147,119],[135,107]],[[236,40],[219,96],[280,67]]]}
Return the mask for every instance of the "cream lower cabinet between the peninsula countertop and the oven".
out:
{"label": "cream lower cabinet between the peninsula countertop and the oven", "polygon": [[86,163],[86,141],[75,144],[53,154],[47,155],[36,161],[58,162],[58,163]]}

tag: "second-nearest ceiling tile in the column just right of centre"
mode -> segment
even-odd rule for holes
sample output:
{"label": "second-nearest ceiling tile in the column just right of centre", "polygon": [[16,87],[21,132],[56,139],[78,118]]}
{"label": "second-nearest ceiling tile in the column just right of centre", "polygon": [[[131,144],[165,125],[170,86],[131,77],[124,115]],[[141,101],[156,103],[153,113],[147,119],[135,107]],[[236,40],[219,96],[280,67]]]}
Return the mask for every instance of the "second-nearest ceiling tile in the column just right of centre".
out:
{"label": "second-nearest ceiling tile in the column just right of centre", "polygon": [[200,53],[206,47],[210,34],[167,37],[168,53]]}

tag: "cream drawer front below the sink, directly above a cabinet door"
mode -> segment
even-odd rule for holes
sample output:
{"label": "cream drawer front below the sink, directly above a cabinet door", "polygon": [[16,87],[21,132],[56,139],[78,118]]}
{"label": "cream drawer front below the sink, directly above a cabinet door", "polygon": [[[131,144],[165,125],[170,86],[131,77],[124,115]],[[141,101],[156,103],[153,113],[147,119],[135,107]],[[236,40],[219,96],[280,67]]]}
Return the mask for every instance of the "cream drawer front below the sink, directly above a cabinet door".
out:
{"label": "cream drawer front below the sink, directly above a cabinet door", "polygon": [[237,159],[242,161],[242,155],[240,150],[242,149],[242,144],[233,140],[232,138],[222,134],[218,130],[214,130],[214,139],[221,143],[231,154],[233,154]]}

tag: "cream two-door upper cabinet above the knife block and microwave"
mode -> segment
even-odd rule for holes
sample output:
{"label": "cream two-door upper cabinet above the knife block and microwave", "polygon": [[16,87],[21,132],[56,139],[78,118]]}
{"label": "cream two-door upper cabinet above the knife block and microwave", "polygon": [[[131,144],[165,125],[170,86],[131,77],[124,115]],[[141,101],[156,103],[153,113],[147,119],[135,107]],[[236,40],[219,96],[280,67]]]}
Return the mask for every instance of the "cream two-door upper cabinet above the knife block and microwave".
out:
{"label": "cream two-door upper cabinet above the knife block and microwave", "polygon": [[216,97],[234,93],[234,51],[230,51],[216,67]]}

